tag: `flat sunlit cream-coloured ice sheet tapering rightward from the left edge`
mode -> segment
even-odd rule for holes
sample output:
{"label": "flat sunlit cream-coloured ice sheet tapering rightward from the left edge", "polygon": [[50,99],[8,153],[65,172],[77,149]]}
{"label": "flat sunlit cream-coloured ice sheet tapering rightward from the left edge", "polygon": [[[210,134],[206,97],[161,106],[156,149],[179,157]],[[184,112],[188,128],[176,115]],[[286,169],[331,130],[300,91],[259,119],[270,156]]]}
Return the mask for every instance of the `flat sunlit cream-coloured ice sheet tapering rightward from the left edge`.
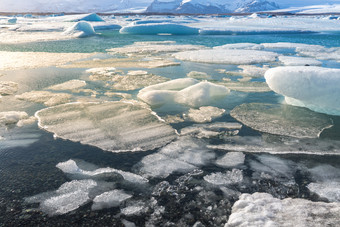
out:
{"label": "flat sunlit cream-coloured ice sheet tapering rightward from the left edge", "polygon": [[47,53],[0,51],[0,70],[33,69],[63,65],[93,56],[93,53]]}

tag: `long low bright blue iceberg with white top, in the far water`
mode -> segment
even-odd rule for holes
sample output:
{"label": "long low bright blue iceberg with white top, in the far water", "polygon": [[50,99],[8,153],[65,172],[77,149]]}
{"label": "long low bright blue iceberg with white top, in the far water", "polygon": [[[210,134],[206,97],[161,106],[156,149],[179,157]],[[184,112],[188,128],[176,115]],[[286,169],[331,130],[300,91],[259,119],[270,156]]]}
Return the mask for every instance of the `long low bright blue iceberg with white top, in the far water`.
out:
{"label": "long low bright blue iceberg with white top, in the far water", "polygon": [[198,29],[180,24],[161,23],[161,24],[135,24],[128,25],[120,29],[121,34],[130,35],[197,35]]}

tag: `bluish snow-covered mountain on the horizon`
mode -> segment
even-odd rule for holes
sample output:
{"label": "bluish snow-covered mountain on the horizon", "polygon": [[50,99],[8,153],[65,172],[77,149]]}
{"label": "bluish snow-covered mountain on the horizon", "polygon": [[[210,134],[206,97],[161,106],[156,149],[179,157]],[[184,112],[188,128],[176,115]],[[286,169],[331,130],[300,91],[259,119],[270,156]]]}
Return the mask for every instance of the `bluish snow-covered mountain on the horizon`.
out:
{"label": "bluish snow-covered mountain on the horizon", "polygon": [[150,13],[246,13],[279,9],[267,0],[154,0],[147,8]]}

